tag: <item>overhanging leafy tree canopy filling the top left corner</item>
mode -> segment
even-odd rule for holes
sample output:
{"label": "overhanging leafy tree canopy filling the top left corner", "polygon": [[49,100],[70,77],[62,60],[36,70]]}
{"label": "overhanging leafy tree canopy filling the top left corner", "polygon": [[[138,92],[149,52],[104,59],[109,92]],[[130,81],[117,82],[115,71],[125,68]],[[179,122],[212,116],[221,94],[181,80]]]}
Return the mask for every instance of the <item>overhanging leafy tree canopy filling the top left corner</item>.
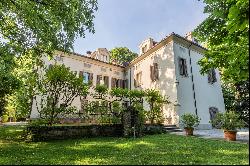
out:
{"label": "overhanging leafy tree canopy filling the top left corner", "polygon": [[96,10],[96,0],[1,0],[1,42],[16,55],[29,49],[49,55],[68,51],[75,37],[94,32]]}

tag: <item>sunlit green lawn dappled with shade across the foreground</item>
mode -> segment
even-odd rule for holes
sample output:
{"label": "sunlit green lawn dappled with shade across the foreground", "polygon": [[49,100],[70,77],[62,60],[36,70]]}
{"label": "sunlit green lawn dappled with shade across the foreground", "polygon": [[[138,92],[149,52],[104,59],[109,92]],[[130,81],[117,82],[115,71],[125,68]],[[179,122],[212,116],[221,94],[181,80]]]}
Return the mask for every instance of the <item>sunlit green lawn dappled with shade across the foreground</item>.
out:
{"label": "sunlit green lawn dappled with shade across the foreground", "polygon": [[0,165],[249,164],[248,144],[171,134],[24,142],[23,127],[0,126]]}

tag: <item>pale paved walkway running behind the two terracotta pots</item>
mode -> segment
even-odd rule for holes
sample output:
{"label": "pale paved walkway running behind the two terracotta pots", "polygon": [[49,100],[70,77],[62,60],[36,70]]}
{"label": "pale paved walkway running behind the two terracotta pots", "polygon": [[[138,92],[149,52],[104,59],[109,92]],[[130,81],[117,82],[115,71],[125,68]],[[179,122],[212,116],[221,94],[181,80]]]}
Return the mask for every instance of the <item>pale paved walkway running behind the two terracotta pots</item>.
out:
{"label": "pale paved walkway running behind the two terracotta pots", "polygon": [[[185,135],[183,132],[172,132],[171,134]],[[194,135],[203,138],[224,139],[224,132],[221,129],[194,130]],[[236,140],[249,143],[249,129],[241,129],[237,132]]]}

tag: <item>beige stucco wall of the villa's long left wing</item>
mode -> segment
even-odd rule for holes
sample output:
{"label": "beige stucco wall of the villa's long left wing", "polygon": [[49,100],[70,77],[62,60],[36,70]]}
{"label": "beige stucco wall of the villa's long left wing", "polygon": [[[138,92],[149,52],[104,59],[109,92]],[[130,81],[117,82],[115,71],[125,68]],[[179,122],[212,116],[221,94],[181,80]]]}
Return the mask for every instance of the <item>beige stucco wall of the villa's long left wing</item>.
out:
{"label": "beige stucco wall of the villa's long left wing", "polygon": [[[121,79],[124,80],[124,67],[109,64],[103,62],[98,59],[94,59],[91,57],[82,56],[79,54],[65,54],[63,52],[56,52],[55,56],[52,60],[48,60],[48,58],[43,58],[44,63],[46,66],[50,64],[64,64],[66,67],[70,67],[70,69],[79,75],[80,71],[88,72],[93,74],[93,83],[92,87],[90,88],[90,92],[94,92],[94,87],[97,82],[97,75],[108,76],[109,79],[109,89],[111,88],[111,79]],[[90,99],[92,100],[92,99]],[[38,109],[36,104],[38,103]],[[36,96],[36,101],[33,102],[31,118],[39,117],[39,103],[40,103],[40,96]],[[73,100],[72,106],[75,106],[78,110],[81,109],[81,101],[80,97],[77,97]]]}

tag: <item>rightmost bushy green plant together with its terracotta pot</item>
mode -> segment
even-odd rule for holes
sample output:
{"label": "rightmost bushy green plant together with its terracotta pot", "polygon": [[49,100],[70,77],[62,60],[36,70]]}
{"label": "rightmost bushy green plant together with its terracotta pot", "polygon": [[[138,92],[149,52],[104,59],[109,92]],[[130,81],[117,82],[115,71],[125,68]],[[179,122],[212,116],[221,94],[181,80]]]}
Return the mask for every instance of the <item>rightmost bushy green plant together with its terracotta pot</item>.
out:
{"label": "rightmost bushy green plant together with its terracotta pot", "polygon": [[224,130],[224,138],[228,141],[236,141],[237,129],[244,127],[244,121],[235,111],[217,113],[211,123]]}

